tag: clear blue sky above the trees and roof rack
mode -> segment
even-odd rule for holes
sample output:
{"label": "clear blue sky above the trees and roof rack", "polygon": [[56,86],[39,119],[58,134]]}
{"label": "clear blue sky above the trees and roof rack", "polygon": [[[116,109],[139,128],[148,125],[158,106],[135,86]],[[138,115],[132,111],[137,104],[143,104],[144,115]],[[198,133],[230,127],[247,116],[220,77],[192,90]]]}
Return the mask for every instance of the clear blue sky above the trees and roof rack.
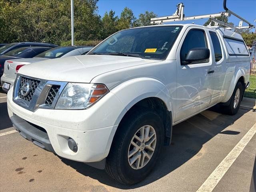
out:
{"label": "clear blue sky above the trees and roof rack", "polygon": [[[117,16],[120,16],[122,10],[127,6],[137,18],[140,13],[145,11],[153,11],[158,16],[170,16],[176,11],[176,5],[180,2],[184,4],[185,17],[224,11],[223,0],[99,0],[98,14],[103,16],[105,12],[109,12],[112,9]],[[232,12],[256,25],[256,22],[254,22],[256,19],[256,0],[227,0],[227,7]],[[176,23],[194,22],[202,25],[207,20],[199,19]],[[230,16],[228,21],[238,26],[240,20],[235,16]],[[248,25],[243,23],[243,26]]]}

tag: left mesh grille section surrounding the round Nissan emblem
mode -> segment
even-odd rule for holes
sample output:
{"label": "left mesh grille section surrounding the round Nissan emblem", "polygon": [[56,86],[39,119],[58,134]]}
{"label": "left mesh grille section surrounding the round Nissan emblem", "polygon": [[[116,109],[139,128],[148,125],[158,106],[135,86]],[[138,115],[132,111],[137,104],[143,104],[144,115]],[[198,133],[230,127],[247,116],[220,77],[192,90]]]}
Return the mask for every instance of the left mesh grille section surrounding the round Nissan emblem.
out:
{"label": "left mesh grille section surrounding the round Nissan emblem", "polygon": [[[34,79],[30,79],[30,78],[26,78],[26,77],[20,77],[20,86],[19,86],[19,90],[18,90],[18,97],[23,99],[23,100],[26,100],[28,102],[30,102],[32,100],[32,97],[34,95],[34,92],[38,86],[38,84],[40,83],[40,81],[38,80],[34,80]],[[27,96],[23,96],[21,94],[21,88],[22,88],[22,85],[24,83],[28,82],[30,84],[30,90],[28,92],[28,95]]]}

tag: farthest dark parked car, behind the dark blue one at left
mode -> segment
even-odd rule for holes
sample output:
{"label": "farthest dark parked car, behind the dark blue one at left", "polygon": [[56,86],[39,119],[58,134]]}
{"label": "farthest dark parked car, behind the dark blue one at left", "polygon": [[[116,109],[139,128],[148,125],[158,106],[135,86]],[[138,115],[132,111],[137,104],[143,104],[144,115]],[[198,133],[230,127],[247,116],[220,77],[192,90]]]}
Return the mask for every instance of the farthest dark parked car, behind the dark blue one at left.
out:
{"label": "farthest dark parked car, behind the dark blue one at left", "polygon": [[2,47],[0,47],[0,55],[6,54],[11,50],[21,48],[21,47],[35,47],[35,46],[40,46],[40,47],[57,47],[57,45],[50,44],[50,43],[35,43],[35,42],[16,42],[16,43],[9,43],[6,44]]}

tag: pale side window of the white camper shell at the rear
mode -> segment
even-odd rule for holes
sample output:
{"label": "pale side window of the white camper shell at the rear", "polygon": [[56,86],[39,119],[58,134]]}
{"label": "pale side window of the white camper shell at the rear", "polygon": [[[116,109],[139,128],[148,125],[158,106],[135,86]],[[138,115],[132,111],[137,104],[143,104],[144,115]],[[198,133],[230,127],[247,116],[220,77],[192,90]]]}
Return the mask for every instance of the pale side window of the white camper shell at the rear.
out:
{"label": "pale side window of the white camper shell at the rear", "polygon": [[243,40],[224,37],[224,42],[230,56],[249,56]]}

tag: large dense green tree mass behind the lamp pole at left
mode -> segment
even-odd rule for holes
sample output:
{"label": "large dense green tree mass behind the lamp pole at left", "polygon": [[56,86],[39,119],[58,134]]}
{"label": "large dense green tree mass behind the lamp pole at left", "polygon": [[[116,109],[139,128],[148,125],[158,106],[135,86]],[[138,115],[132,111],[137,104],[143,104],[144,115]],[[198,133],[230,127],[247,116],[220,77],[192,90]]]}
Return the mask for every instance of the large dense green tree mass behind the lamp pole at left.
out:
{"label": "large dense green tree mass behind the lamp pole at left", "polygon": [[[101,38],[98,0],[74,1],[76,40]],[[71,39],[70,0],[0,0],[0,42]]]}

